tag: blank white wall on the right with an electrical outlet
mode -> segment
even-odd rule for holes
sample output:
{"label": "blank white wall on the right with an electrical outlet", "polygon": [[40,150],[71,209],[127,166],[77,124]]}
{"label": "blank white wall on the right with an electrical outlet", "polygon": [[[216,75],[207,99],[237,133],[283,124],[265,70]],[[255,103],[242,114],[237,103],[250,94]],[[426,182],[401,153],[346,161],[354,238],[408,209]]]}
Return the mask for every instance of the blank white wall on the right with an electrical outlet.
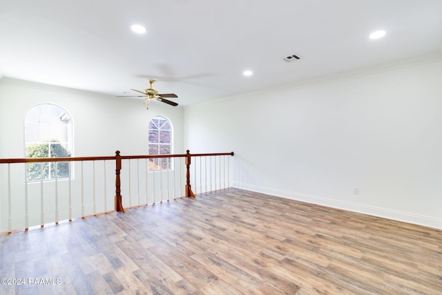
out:
{"label": "blank white wall on the right with an electrical outlet", "polygon": [[185,146],[234,151],[236,187],[442,228],[441,82],[439,56],[189,106]]}

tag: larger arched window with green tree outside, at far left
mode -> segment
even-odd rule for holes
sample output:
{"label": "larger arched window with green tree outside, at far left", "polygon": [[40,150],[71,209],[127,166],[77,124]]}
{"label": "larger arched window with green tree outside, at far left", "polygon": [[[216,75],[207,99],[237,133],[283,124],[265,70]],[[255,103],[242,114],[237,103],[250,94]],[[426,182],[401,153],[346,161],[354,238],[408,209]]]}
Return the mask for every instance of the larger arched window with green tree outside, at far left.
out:
{"label": "larger arched window with green tree outside, at far left", "polygon": [[[24,142],[26,158],[71,157],[73,122],[69,113],[55,104],[37,104],[25,115]],[[29,163],[28,181],[68,178],[69,163]]]}

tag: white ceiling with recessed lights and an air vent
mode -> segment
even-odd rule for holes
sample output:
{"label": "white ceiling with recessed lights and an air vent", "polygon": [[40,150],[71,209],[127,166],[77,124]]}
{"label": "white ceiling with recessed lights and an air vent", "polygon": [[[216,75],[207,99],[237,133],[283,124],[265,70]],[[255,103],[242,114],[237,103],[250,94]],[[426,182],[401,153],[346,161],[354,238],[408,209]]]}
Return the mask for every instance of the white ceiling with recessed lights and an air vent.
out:
{"label": "white ceiling with recessed lights and an air vent", "polygon": [[3,77],[182,105],[441,50],[442,0],[0,0]]}

